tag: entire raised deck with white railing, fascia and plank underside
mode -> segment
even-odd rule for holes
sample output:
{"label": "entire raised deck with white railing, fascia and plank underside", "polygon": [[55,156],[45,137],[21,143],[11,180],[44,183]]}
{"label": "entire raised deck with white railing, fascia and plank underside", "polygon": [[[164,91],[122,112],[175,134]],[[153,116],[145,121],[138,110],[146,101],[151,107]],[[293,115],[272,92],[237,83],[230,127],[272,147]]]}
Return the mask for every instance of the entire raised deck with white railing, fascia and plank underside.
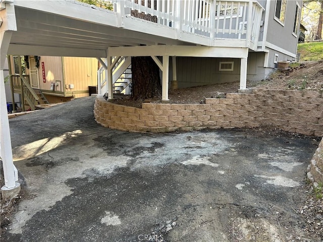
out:
{"label": "entire raised deck with white railing, fascia and plank underside", "polygon": [[109,47],[160,44],[257,49],[256,1],[139,2],[115,1],[110,11],[74,0],[15,0],[8,53],[106,57]]}

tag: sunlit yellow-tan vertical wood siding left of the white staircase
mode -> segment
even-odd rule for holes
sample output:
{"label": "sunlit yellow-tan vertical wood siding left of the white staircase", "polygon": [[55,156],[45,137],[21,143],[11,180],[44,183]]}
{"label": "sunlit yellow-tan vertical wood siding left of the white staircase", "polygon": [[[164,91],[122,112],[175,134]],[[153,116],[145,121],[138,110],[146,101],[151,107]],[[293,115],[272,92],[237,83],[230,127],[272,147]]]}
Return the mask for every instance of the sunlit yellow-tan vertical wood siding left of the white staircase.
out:
{"label": "sunlit yellow-tan vertical wood siding left of the white staircase", "polygon": [[[74,97],[88,96],[88,87],[97,85],[97,59],[63,57],[63,66],[66,92],[72,92]],[[73,89],[69,88],[70,84],[74,85]]]}

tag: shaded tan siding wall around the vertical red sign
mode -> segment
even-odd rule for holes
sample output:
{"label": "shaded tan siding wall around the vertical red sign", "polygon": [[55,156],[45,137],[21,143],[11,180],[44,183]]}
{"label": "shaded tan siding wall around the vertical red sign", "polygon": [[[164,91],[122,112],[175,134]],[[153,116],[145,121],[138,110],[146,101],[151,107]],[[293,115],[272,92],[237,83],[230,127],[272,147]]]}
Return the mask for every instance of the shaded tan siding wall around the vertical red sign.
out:
{"label": "shaded tan siding wall around the vertical red sign", "polygon": [[[41,63],[45,66],[46,82],[43,82]],[[41,90],[50,90],[50,84],[55,83],[56,80],[62,82],[63,85],[63,69],[62,57],[59,56],[40,56],[39,68],[39,88]]]}

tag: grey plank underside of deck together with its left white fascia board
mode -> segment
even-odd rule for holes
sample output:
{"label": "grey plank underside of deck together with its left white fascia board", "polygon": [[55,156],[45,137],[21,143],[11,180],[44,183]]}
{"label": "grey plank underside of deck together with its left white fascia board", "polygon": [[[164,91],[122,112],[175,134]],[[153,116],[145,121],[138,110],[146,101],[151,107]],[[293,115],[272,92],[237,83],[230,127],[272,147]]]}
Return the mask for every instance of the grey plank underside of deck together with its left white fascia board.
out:
{"label": "grey plank underside of deck together with its left white fascia board", "polygon": [[18,0],[15,14],[8,54],[105,57],[108,47],[185,44],[118,28],[116,13],[69,1]]}

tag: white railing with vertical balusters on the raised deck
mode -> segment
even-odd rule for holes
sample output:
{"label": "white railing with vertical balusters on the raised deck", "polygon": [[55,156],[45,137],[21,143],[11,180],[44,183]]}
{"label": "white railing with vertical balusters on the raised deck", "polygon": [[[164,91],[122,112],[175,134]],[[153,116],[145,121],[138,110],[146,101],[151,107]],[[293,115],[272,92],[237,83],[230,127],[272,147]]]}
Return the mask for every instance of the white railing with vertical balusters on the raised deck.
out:
{"label": "white railing with vertical balusters on the raised deck", "polygon": [[[125,17],[147,17],[179,33],[186,32],[216,39],[246,40],[246,47],[257,46],[262,7],[249,0],[124,0],[115,11]],[[134,14],[136,12],[136,14]]]}

